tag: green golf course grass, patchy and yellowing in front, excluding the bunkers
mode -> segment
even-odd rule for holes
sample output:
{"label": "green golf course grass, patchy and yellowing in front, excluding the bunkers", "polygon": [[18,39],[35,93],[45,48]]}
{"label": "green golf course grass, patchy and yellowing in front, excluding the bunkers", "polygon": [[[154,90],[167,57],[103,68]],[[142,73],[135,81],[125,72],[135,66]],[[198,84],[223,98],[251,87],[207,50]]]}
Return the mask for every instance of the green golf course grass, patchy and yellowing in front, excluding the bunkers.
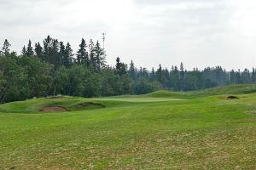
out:
{"label": "green golf course grass, patchy and yellowing in front, excluding the bunkers", "polygon": [[[246,87],[0,105],[0,169],[256,169],[256,94]],[[78,109],[84,102],[105,108]]]}

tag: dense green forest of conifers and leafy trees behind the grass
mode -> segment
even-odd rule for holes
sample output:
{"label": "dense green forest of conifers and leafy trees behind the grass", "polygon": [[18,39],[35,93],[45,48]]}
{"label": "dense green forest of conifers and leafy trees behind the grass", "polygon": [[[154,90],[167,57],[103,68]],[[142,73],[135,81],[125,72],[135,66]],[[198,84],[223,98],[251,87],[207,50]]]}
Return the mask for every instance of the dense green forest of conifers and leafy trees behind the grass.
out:
{"label": "dense green forest of conifers and leafy trees behind the grass", "polygon": [[225,71],[221,66],[187,71],[183,63],[170,68],[136,67],[118,57],[116,65],[106,62],[101,44],[84,38],[73,52],[69,42],[46,37],[43,43],[28,44],[20,54],[11,51],[8,40],[0,51],[0,103],[70,95],[82,97],[147,94],[158,89],[189,91],[224,84],[254,83],[256,72]]}

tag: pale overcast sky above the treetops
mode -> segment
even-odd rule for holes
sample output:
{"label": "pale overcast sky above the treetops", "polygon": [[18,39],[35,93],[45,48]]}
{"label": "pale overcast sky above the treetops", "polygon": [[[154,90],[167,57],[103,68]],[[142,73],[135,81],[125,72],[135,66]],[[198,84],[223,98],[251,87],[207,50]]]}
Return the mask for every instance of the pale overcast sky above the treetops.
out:
{"label": "pale overcast sky above the treetops", "polygon": [[106,32],[110,65],[256,66],[255,0],[0,0],[0,22],[1,43],[18,52],[47,35],[76,51]]}

